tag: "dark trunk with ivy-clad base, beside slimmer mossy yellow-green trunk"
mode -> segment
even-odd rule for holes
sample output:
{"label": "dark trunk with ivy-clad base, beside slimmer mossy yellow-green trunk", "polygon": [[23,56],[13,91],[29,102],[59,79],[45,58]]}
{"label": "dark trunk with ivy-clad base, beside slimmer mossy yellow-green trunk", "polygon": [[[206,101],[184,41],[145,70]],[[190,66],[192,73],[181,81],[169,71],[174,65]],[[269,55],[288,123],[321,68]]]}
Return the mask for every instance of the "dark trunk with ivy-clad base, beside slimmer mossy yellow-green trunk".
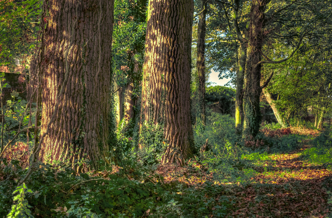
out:
{"label": "dark trunk with ivy-clad base, beside slimmer mossy yellow-green trunk", "polygon": [[248,60],[246,68],[246,86],[244,94],[243,136],[255,138],[259,132],[262,114],[260,109],[261,50],[264,42],[263,22],[264,0],[254,0],[251,5],[249,23]]}

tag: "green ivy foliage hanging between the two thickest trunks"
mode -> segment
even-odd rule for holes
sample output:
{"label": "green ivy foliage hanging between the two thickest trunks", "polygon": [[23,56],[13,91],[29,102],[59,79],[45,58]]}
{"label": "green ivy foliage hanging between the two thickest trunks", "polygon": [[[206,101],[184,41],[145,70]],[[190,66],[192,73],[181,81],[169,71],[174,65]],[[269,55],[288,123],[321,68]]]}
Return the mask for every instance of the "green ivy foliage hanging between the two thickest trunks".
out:
{"label": "green ivy foliage hanging between the two thickest trunks", "polygon": [[144,0],[115,0],[113,27],[113,72],[119,86],[125,86],[130,79],[136,83],[141,75],[133,74],[135,62],[144,61],[146,33],[146,3]]}

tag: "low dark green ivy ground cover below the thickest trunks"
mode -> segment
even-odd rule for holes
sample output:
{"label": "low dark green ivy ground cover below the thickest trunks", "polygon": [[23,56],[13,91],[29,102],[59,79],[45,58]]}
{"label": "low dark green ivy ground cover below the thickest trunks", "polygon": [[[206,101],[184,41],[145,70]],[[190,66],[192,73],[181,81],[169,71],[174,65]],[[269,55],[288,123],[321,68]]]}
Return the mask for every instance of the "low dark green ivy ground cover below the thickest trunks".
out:
{"label": "low dark green ivy ground cover below the thickest trunks", "polygon": [[[84,173],[75,175],[71,168],[38,164],[27,181],[30,190],[16,188],[27,171],[20,168],[19,161],[11,161],[0,171],[7,178],[0,182],[0,217],[10,212],[14,190],[26,190],[24,205],[25,208],[31,205],[34,216],[57,218],[137,218],[144,214],[152,218],[191,218],[207,216],[212,207],[213,214],[220,217],[234,203],[226,196],[219,196],[223,186],[206,182],[202,186],[205,192],[182,184],[171,187],[161,183],[162,178],[154,178],[129,162],[134,167],[131,170],[109,174],[111,168],[106,167],[93,177]],[[29,217],[29,211],[23,217]]]}

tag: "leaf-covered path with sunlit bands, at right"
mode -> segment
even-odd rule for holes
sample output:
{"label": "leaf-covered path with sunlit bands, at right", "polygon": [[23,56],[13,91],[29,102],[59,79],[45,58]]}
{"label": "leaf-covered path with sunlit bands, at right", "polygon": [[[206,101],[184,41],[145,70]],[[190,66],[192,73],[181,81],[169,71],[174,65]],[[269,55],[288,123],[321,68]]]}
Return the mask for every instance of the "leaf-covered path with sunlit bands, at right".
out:
{"label": "leaf-covered path with sunlit bands, at right", "polygon": [[331,170],[301,160],[303,148],[290,153],[269,155],[258,163],[254,182],[239,186],[234,217],[328,217],[327,193],[332,191]]}

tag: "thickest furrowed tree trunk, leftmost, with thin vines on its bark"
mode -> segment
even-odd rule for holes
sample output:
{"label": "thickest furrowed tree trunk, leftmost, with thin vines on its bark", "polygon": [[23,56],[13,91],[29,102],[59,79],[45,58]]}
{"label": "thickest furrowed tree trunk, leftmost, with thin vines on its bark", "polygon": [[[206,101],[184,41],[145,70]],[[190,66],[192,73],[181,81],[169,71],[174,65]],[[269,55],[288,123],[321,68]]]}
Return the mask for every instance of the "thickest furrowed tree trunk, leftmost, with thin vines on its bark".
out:
{"label": "thickest furrowed tree trunk, leftmost, with thin vines on its bark", "polygon": [[[113,0],[49,0],[40,159],[97,166],[110,150]],[[112,149],[113,152],[113,149]],[[82,165],[81,165],[82,166]],[[83,165],[84,166],[84,165]]]}

